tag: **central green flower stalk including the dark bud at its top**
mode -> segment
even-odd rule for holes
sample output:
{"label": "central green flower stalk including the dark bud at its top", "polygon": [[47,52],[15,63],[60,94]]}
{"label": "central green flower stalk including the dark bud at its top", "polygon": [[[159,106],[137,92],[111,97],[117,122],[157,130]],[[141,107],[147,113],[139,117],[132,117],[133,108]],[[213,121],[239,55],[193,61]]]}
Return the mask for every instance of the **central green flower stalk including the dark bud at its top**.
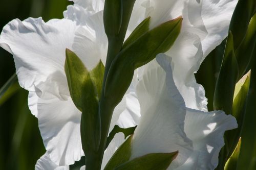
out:
{"label": "central green flower stalk including the dark bud at its top", "polygon": [[[110,100],[108,100],[104,96],[105,81],[106,81],[106,77],[108,75],[109,68],[111,66],[113,59],[116,57],[116,55],[120,52],[122,48],[134,3],[135,3],[135,0],[132,0],[132,1],[120,0],[120,1],[115,1],[115,3],[113,3],[113,1],[105,1],[103,18],[104,18],[105,33],[108,37],[109,45],[108,45],[108,53],[106,56],[106,64],[105,64],[105,70],[104,70],[101,96],[99,101],[99,113],[101,117],[100,118],[101,138],[100,138],[98,151],[86,157],[86,169],[88,170],[91,170],[91,169],[97,170],[97,169],[100,169],[101,167],[103,154],[106,146],[106,141],[108,138],[111,118],[112,118],[113,111],[116,107],[116,105],[109,102]],[[114,11],[116,10],[117,12],[110,12],[110,10],[114,10]],[[118,16],[116,16],[116,14]],[[115,23],[114,25],[112,25],[113,23],[111,22],[113,18]],[[113,29],[115,31],[112,31]]]}

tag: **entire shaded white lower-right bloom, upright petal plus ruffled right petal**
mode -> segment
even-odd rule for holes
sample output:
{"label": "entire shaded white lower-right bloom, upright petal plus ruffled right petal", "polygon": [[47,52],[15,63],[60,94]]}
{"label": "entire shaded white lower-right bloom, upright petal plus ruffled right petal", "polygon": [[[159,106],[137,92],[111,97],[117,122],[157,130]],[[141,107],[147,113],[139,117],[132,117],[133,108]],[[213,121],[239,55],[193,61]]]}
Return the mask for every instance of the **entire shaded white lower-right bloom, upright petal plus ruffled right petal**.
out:
{"label": "entire shaded white lower-right bloom, upright petal plus ruffled right petal", "polygon": [[185,108],[170,58],[160,54],[157,61],[162,68],[153,60],[148,67],[154,69],[147,70],[137,85],[142,116],[134,134],[132,158],[178,150],[168,169],[214,169],[224,132],[237,128],[236,119],[222,111]]}

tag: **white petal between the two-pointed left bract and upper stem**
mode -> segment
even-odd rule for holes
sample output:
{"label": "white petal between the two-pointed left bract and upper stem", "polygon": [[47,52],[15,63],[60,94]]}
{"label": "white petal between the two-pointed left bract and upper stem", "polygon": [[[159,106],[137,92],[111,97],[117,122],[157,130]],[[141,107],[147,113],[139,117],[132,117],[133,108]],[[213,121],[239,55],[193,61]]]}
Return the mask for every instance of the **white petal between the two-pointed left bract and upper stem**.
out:
{"label": "white petal between the two-pointed left bract and upper stem", "polygon": [[88,69],[92,69],[101,59],[105,64],[108,50],[108,39],[103,26],[103,12],[98,12],[87,18],[87,23],[75,33],[74,52]]}

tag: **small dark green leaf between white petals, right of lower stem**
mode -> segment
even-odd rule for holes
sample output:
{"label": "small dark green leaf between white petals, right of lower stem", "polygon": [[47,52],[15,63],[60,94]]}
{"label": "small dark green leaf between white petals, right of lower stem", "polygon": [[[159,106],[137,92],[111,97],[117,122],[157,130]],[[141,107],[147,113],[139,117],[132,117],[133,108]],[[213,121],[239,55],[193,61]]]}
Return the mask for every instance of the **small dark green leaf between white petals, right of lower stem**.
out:
{"label": "small dark green leaf between white petals, right of lower stem", "polygon": [[131,127],[131,128],[120,128],[118,125],[115,125],[113,130],[110,132],[108,139],[106,140],[106,147],[108,148],[111,140],[114,138],[115,134],[122,132],[124,134],[124,139],[126,139],[127,136],[132,135],[135,131],[137,126]]}

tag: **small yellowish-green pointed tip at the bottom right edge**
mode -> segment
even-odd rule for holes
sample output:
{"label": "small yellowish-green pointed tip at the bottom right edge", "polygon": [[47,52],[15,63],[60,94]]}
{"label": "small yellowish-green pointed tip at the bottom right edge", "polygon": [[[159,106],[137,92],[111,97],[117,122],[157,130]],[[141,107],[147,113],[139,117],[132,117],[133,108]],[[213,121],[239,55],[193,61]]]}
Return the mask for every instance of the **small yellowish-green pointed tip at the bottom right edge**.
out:
{"label": "small yellowish-green pointed tip at the bottom right edge", "polygon": [[241,138],[238,141],[236,149],[234,150],[234,152],[232,153],[230,158],[227,160],[224,170],[236,170],[237,169],[240,148],[241,148]]}

